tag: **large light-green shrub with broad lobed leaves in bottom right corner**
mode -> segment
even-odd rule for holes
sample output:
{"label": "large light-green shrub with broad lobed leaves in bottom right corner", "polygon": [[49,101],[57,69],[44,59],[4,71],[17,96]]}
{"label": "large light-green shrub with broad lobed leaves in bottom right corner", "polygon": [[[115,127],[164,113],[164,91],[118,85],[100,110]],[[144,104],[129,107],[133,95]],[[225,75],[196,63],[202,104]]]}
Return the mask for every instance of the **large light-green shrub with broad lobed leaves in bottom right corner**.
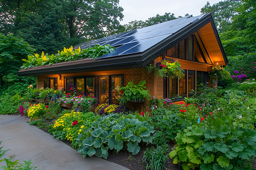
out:
{"label": "large light-green shrub with broad lobed leaves in bottom right corner", "polygon": [[[245,169],[255,156],[256,131],[243,125],[228,109],[201,118],[199,124],[177,133],[177,147],[170,153],[183,169]],[[252,124],[253,122],[251,122]]]}

